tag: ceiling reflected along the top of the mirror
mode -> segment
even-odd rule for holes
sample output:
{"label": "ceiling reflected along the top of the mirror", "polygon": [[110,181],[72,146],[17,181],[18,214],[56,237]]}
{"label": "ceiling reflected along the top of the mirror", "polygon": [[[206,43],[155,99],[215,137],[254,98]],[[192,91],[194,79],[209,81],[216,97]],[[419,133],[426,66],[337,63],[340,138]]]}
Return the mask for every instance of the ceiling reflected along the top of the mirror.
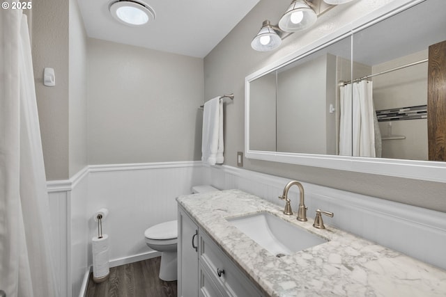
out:
{"label": "ceiling reflected along the top of the mirror", "polygon": [[[356,63],[369,66],[427,50],[429,45],[446,40],[445,9],[445,0],[429,0],[418,3],[397,15],[354,33],[353,39],[348,35],[343,40],[338,40],[312,55],[282,67],[279,72],[307,63],[325,54],[349,60],[352,58],[352,48],[353,60]],[[426,15],[429,17],[420,17]]]}

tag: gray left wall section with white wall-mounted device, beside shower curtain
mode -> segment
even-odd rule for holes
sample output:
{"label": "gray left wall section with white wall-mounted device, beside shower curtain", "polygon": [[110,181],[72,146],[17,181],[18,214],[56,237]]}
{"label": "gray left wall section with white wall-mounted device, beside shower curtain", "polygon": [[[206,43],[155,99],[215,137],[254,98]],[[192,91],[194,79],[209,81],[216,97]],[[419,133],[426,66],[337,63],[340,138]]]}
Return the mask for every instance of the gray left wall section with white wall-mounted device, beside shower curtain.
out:
{"label": "gray left wall section with white wall-mounted device, beside shower curtain", "polygon": [[[68,179],[87,164],[86,32],[77,1],[35,0],[31,40],[47,180]],[[43,85],[54,68],[56,86]]]}

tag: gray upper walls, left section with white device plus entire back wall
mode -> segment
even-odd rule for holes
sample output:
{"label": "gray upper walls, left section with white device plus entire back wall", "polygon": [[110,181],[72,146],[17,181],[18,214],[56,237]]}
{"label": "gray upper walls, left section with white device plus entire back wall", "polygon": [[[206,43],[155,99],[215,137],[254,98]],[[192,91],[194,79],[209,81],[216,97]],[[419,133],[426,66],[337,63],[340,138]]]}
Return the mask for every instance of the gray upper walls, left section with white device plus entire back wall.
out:
{"label": "gray upper walls, left section with white device plus entire back wall", "polygon": [[[87,39],[75,0],[33,1],[32,16],[47,180],[87,164],[201,159],[203,59]],[[44,67],[56,86],[43,86]]]}

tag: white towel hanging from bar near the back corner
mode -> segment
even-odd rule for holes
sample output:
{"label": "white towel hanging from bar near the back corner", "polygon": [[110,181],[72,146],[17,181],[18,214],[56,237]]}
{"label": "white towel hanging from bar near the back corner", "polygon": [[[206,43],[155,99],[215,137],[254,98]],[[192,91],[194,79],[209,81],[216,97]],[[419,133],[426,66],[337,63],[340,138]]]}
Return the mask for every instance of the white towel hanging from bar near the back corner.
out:
{"label": "white towel hanging from bar near the back corner", "polygon": [[223,151],[223,106],[220,97],[215,97],[204,104],[201,161],[223,163]]}

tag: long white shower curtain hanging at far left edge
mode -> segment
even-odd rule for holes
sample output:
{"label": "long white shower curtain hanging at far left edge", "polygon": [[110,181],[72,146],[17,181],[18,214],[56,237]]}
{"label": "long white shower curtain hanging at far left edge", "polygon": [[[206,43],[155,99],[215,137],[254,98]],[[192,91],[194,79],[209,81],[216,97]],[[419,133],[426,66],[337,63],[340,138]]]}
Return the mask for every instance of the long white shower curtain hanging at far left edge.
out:
{"label": "long white shower curtain hanging at far left edge", "polygon": [[0,10],[0,289],[60,296],[26,15]]}

